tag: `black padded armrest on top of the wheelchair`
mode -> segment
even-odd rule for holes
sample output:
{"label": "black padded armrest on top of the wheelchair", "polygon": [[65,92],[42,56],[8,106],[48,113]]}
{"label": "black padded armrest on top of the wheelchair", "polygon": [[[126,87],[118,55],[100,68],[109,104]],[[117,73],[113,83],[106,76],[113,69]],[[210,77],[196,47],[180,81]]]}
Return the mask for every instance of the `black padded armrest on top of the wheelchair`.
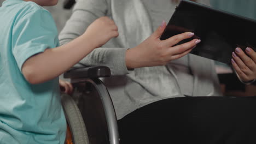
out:
{"label": "black padded armrest on top of the wheelchair", "polygon": [[110,77],[111,71],[105,66],[72,68],[63,75],[67,79]]}

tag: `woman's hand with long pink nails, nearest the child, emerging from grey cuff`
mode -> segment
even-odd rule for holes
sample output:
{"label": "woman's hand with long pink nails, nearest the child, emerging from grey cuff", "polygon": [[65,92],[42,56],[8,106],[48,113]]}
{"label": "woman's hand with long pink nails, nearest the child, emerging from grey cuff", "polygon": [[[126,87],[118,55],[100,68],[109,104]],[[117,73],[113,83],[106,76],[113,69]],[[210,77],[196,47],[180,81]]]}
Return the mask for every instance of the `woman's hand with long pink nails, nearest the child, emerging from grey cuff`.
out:
{"label": "woman's hand with long pink nails, nearest the child, emerging from grey cuff", "polygon": [[[187,55],[196,44],[200,43],[199,39],[193,39],[187,43],[176,45],[179,41],[193,37],[194,33],[185,32],[174,35],[166,40],[160,40],[164,32],[166,22],[146,40],[138,46],[127,50],[126,65],[127,68],[153,67],[165,65],[168,62]],[[176,45],[176,46],[174,46]]]}

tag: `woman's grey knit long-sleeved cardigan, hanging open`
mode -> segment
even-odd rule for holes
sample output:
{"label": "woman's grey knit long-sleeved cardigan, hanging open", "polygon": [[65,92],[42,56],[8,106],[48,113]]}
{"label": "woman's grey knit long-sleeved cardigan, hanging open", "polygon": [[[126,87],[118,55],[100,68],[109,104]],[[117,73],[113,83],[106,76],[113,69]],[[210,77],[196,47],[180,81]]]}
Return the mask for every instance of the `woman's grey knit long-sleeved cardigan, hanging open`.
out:
{"label": "woman's grey knit long-sleeved cardigan, hanging open", "polygon": [[[175,7],[173,4],[173,9]],[[154,32],[150,16],[140,0],[78,0],[60,33],[61,45],[83,34],[90,23],[101,16],[109,16],[115,21],[119,37],[95,49],[80,63],[106,65],[111,69],[112,77],[102,80],[108,87],[118,119],[154,101],[184,97],[168,64],[134,70],[126,68],[126,50]],[[193,96],[222,95],[214,62],[190,54],[188,57],[194,75]]]}

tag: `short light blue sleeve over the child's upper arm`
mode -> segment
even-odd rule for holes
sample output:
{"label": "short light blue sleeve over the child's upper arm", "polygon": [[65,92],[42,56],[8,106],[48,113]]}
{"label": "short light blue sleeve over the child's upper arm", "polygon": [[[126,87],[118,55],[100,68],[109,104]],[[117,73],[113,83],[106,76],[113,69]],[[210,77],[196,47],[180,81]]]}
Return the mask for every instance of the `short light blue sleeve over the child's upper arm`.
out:
{"label": "short light blue sleeve over the child's upper arm", "polygon": [[49,11],[36,9],[16,19],[12,52],[20,71],[28,58],[56,46],[59,46],[58,33]]}

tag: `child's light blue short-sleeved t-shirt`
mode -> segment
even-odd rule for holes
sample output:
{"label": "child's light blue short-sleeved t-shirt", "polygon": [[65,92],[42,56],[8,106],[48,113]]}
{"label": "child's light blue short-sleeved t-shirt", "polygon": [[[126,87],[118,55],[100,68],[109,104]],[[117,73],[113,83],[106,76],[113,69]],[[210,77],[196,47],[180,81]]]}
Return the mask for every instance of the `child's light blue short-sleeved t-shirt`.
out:
{"label": "child's light blue short-sleeved t-shirt", "polygon": [[59,46],[53,17],[36,3],[6,0],[0,32],[0,143],[63,144],[59,79],[31,85],[21,72],[28,58]]}

